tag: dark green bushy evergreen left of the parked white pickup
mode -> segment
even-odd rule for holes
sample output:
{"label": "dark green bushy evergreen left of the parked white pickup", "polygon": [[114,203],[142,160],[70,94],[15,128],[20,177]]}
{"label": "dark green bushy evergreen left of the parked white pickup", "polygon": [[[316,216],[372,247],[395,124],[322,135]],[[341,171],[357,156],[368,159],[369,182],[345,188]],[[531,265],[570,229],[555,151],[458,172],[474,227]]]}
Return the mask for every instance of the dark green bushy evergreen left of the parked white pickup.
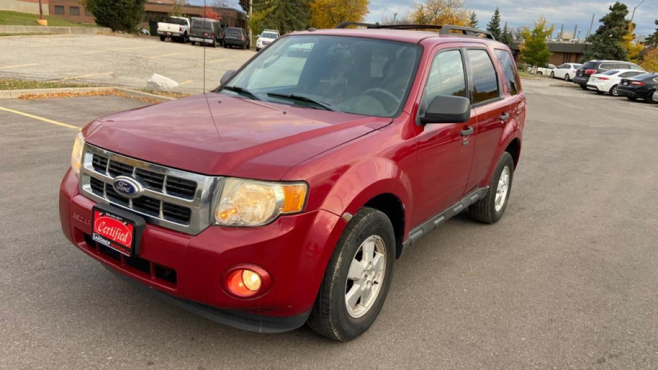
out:
{"label": "dark green bushy evergreen left of the parked white pickup", "polygon": [[86,0],[84,6],[99,26],[132,32],[141,21],[146,0]]}

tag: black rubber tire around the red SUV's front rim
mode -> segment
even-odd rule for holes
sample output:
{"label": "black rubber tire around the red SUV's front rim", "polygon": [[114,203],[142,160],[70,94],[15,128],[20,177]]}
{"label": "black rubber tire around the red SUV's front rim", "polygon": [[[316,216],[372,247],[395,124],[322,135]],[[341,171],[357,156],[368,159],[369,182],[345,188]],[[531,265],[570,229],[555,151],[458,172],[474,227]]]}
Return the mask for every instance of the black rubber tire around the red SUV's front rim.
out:
{"label": "black rubber tire around the red SUV's front rim", "polygon": [[[349,315],[345,306],[347,273],[352,259],[361,248],[361,243],[370,236],[379,236],[383,240],[386,267],[377,298],[363,316],[354,318]],[[388,288],[391,285],[394,260],[395,234],[391,221],[381,211],[368,207],[361,208],[347,223],[336,244],[307,321],[308,327],[318,334],[341,342],[363,334],[374,323],[384,305]]]}

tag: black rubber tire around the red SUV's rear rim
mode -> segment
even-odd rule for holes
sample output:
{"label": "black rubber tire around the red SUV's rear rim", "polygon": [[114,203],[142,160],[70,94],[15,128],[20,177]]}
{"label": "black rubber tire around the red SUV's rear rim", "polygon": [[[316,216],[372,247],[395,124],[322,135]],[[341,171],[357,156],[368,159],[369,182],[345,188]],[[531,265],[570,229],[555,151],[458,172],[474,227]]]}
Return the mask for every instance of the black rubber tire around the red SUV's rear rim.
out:
{"label": "black rubber tire around the red SUV's rear rim", "polygon": [[[498,185],[498,180],[503,173],[503,169],[505,167],[509,167],[509,185],[507,188],[507,195],[505,196],[505,202],[503,203],[501,209],[499,211],[495,210],[495,196],[496,196],[496,189]],[[489,191],[487,192],[487,195],[473,203],[472,205],[468,206],[468,214],[470,217],[472,217],[474,220],[479,221],[481,223],[486,223],[486,224],[493,224],[496,223],[501,217],[503,217],[503,213],[505,213],[505,209],[507,209],[507,201],[509,200],[509,194],[512,192],[512,183],[514,180],[514,160],[512,159],[512,155],[509,154],[507,151],[501,155],[500,159],[498,160],[498,164],[495,167],[495,171],[493,171],[493,176],[492,179],[489,182]]]}

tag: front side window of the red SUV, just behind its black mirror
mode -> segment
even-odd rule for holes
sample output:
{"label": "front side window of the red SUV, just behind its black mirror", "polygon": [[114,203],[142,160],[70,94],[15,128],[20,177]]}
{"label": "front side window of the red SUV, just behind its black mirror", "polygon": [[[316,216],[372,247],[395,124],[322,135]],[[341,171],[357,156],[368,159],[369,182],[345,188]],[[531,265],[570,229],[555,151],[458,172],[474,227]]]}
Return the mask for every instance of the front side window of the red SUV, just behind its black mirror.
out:
{"label": "front side window of the red SUV, just behind its black mirror", "polygon": [[439,95],[467,97],[464,63],[459,50],[438,53],[432,61],[425,84],[422,107],[426,108]]}

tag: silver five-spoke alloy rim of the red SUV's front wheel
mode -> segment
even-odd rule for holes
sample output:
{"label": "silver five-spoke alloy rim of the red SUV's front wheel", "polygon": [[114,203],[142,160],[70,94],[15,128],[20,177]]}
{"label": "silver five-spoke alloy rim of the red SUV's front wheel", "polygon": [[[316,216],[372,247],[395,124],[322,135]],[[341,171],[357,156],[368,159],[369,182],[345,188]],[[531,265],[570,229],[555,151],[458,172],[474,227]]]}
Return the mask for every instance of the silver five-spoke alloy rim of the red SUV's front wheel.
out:
{"label": "silver five-spoke alloy rim of the red SUV's front wheel", "polygon": [[352,258],[345,282],[345,308],[358,319],[365,315],[382,288],[386,274],[386,246],[380,236],[368,236]]}

